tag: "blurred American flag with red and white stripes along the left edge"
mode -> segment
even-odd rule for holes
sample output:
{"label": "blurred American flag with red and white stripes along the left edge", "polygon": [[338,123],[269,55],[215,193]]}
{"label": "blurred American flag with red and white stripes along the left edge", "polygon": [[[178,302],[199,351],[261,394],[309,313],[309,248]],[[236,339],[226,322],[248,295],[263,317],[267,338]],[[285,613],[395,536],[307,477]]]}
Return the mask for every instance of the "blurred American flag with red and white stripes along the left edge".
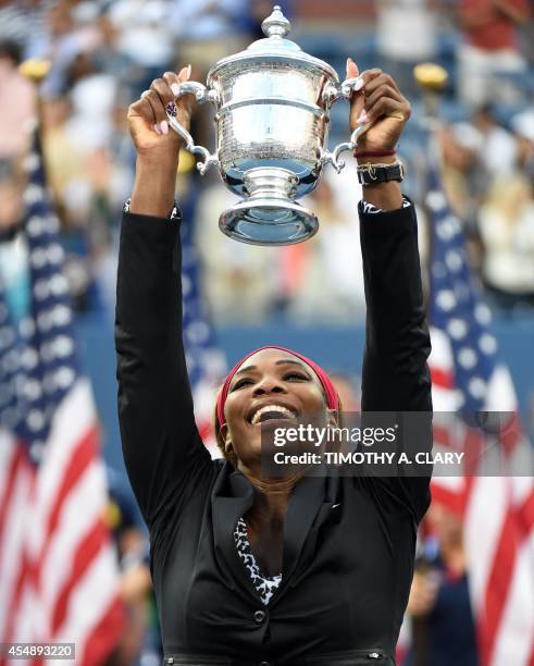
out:
{"label": "blurred American flag with red and white stripes along the left edge", "polygon": [[76,360],[37,132],[27,175],[23,319],[10,318],[0,289],[0,643],[75,643],[75,663],[95,666],[116,643],[122,604],[97,415]]}

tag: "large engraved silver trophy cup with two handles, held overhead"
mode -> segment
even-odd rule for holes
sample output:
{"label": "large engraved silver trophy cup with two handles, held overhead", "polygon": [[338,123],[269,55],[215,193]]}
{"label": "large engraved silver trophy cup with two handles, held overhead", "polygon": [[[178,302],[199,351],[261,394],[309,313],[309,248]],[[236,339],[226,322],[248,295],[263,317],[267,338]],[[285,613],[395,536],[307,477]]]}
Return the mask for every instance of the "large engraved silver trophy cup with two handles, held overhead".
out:
{"label": "large engraved silver trophy cup with two handles, held overhead", "polygon": [[339,173],[344,150],[353,150],[371,123],[356,127],[350,140],[327,148],[330,109],[349,99],[355,78],[341,84],[326,62],[305,53],[286,35],[291,25],[274,7],[261,25],[265,38],[220,60],[207,86],[186,82],[176,96],[193,94],[216,110],[216,152],[195,145],[169,113],[169,123],[201,156],[201,174],[216,164],[226,186],[240,197],[220,219],[221,231],[252,245],[291,245],[313,236],[318,218],[297,199],[311,192],[328,162]]}

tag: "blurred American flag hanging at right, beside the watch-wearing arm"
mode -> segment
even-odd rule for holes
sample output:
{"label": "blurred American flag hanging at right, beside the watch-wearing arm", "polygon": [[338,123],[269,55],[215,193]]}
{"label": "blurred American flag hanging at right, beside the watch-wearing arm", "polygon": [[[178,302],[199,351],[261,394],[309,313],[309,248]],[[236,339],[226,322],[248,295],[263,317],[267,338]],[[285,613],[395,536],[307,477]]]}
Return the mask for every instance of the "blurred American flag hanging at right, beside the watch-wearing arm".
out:
{"label": "blurred American flag hanging at right, beside the watch-wearing arm", "polygon": [[[481,666],[534,664],[534,485],[529,470],[513,466],[530,443],[521,429],[513,384],[499,360],[492,317],[470,271],[459,220],[447,206],[439,180],[431,175],[426,198],[431,218],[431,321],[435,442],[455,445],[439,412],[498,411],[510,416],[494,446],[502,476],[476,467],[487,436],[465,425],[467,451],[476,447],[464,477],[435,477],[434,502],[460,510],[464,519],[471,604],[477,626]],[[458,429],[455,428],[455,436]],[[482,457],[480,458],[482,460]],[[532,470],[531,470],[532,471]]]}

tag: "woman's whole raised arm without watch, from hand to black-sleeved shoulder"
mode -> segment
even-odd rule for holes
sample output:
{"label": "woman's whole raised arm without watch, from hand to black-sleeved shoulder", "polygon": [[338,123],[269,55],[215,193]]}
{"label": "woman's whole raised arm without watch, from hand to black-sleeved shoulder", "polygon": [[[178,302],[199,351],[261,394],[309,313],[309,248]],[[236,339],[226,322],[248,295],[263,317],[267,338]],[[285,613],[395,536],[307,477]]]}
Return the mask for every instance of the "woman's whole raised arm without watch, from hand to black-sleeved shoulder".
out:
{"label": "woman's whole raised arm without watch, from hand to black-sleeved shoulder", "polygon": [[[129,212],[119,255],[115,346],[124,460],[149,528],[154,527],[210,464],[198,434],[182,342],[179,220],[171,219],[181,139],[169,131],[167,73],[128,111],[137,148]],[[186,103],[178,118],[189,121]]]}

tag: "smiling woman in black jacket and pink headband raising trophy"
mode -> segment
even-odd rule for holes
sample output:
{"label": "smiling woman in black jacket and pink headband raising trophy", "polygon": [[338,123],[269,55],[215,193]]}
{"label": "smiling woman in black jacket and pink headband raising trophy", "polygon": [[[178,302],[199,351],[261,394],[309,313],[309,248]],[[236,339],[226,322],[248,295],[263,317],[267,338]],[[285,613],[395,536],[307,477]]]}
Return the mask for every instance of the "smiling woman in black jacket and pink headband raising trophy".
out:
{"label": "smiling woman in black jacket and pink headband raising trophy", "polygon": [[[347,74],[358,76],[350,60]],[[166,73],[129,108],[138,157],[116,309],[123,449],[150,530],[165,663],[392,665],[429,479],[335,470],[263,479],[262,407],[276,418],[288,410],[333,421],[339,411],[325,373],[281,348],[248,356],[225,382],[216,406],[224,460],[211,460],[196,429],[181,335],[177,224],[170,220],[181,139],[165,122],[173,88],[187,77],[186,69]],[[179,103],[187,123],[189,109]],[[361,75],[350,125],[365,113],[375,123],[360,159],[393,162],[410,108],[380,70]],[[430,411],[413,207],[394,181],[365,186],[364,200],[362,408]]]}

